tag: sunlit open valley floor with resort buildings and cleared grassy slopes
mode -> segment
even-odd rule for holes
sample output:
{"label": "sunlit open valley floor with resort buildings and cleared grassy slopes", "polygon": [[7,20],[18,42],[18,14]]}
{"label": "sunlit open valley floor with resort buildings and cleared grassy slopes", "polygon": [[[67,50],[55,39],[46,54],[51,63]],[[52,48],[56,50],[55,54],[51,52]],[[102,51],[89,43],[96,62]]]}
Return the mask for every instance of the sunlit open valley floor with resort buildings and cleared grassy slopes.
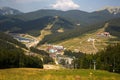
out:
{"label": "sunlit open valley floor with resort buildings and cleared grassy slopes", "polygon": [[[54,22],[55,23],[55,22]],[[63,40],[52,44],[38,45],[39,41],[42,41],[46,35],[52,34],[51,28],[53,24],[48,24],[43,30],[41,30],[41,35],[38,37],[33,37],[26,34],[19,34],[20,38],[24,36],[26,39],[31,39],[30,42],[22,42],[29,49],[30,47],[36,47],[38,50],[44,50],[49,53],[50,57],[54,60],[54,65],[44,64],[44,69],[61,69],[61,68],[74,68],[73,57],[68,57],[64,55],[64,50],[70,50],[73,52],[82,52],[85,54],[96,54],[97,52],[104,50],[108,45],[119,43],[119,41],[114,41],[117,37],[112,36],[109,32],[106,32],[106,28],[109,27],[109,23],[105,23],[102,28],[83,34],[82,36]],[[24,50],[26,51],[26,50]],[[36,54],[31,51],[26,51],[26,53]],[[39,56],[39,55],[36,55]],[[65,64],[62,64],[62,60],[65,60]]]}

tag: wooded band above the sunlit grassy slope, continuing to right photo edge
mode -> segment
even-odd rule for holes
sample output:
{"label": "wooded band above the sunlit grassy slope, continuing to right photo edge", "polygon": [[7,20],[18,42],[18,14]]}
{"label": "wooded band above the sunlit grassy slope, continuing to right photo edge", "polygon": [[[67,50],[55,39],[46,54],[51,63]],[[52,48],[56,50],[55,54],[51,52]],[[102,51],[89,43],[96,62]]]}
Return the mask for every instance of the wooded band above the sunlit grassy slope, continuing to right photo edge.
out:
{"label": "wooded band above the sunlit grassy slope, continuing to right photo edge", "polygon": [[[109,21],[106,21],[109,23],[109,25],[105,28],[106,32],[109,32],[111,35],[116,36],[118,39],[120,38],[120,18],[112,19]],[[47,35],[40,44],[44,43],[54,43],[54,42],[62,42],[64,40],[69,40],[70,38],[75,38],[78,36],[81,36],[83,34],[92,32],[104,27],[105,23],[96,23],[94,25],[89,25],[86,27],[77,27],[75,29],[66,31],[64,33],[54,33]]]}

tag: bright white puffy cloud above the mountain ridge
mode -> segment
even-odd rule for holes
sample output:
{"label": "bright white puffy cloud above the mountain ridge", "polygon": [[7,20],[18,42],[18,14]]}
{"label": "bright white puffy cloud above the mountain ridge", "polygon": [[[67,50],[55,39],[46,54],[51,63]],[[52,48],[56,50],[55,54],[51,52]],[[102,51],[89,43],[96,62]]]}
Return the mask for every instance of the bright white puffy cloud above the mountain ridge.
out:
{"label": "bright white puffy cloud above the mountain ridge", "polygon": [[55,4],[52,5],[54,9],[60,10],[72,10],[78,9],[80,6],[73,2],[73,0],[57,0]]}

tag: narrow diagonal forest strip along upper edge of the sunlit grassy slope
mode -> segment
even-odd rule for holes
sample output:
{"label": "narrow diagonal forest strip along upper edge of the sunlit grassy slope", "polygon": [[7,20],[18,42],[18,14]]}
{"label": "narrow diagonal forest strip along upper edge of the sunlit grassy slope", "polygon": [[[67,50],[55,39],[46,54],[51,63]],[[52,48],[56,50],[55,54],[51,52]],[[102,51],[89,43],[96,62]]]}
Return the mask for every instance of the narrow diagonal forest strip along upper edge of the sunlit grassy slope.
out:
{"label": "narrow diagonal forest strip along upper edge of the sunlit grassy slope", "polygon": [[95,31],[99,28],[103,27],[103,23],[98,23],[94,25],[89,25],[86,27],[76,27],[75,29],[72,30],[67,30],[66,32],[63,33],[54,33],[47,35],[39,44],[44,44],[44,43],[56,43],[56,42],[61,42],[70,38],[75,38],[78,36],[81,36],[83,34],[86,34],[91,31]]}

